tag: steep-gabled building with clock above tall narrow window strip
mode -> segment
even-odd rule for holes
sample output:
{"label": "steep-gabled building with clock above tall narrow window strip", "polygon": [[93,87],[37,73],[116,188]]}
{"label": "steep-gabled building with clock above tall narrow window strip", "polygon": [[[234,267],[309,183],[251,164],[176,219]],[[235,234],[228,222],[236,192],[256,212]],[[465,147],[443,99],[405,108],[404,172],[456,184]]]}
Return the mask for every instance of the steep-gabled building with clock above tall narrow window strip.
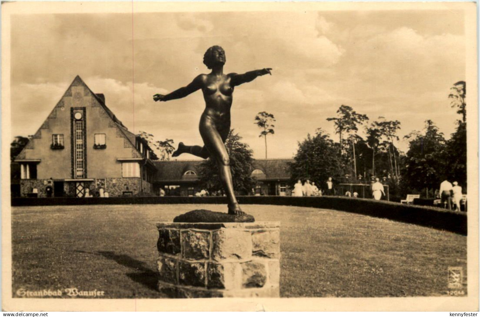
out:
{"label": "steep-gabled building with clock above tall narrow window strip", "polygon": [[156,167],[146,141],[135,136],[76,76],[15,158],[20,195],[139,195],[153,190]]}

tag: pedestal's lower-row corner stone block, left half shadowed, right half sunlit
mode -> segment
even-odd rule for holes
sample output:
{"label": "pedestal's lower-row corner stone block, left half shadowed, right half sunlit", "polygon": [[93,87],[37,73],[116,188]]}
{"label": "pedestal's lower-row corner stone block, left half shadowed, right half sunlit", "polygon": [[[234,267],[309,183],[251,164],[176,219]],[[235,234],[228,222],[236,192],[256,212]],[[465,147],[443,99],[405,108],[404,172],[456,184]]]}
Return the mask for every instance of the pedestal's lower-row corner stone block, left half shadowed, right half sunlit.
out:
{"label": "pedestal's lower-row corner stone block, left half shadowed, right half sunlit", "polygon": [[216,289],[241,288],[242,269],[239,263],[207,264],[207,287]]}

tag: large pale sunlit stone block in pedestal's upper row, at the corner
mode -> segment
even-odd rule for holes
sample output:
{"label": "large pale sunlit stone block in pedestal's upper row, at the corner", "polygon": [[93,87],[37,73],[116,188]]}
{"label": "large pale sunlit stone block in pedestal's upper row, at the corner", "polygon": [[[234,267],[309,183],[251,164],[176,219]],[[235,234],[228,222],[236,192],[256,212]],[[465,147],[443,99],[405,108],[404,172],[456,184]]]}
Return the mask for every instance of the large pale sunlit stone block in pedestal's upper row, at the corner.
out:
{"label": "large pale sunlit stone block in pedestal's upper row, at the corner", "polygon": [[248,231],[221,229],[212,233],[212,259],[245,260],[252,257],[252,234]]}

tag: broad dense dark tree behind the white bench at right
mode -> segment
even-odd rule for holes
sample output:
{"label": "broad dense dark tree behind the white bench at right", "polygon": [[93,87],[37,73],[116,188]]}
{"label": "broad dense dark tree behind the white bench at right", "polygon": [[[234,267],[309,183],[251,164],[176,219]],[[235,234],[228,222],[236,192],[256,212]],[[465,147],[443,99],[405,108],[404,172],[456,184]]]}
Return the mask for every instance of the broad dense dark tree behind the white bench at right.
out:
{"label": "broad dense dark tree behind the white bench at right", "polygon": [[409,140],[409,149],[404,182],[419,191],[438,186],[445,177],[445,168],[448,168],[444,161],[444,135],[431,120],[427,120],[423,133],[414,131],[405,138]]}

